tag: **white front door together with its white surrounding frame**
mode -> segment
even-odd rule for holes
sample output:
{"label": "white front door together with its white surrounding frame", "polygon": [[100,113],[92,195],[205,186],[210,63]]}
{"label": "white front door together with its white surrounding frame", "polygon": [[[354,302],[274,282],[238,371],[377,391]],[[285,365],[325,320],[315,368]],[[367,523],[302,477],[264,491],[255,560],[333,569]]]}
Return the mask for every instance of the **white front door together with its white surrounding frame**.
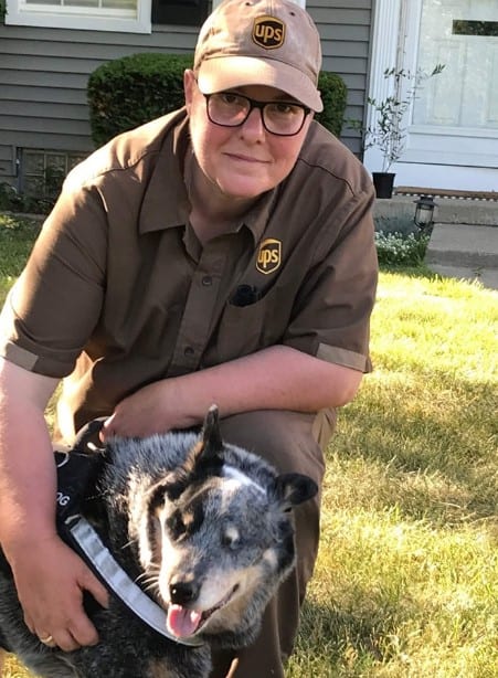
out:
{"label": "white front door together with its white surrounding frame", "polygon": [[410,112],[396,184],[498,191],[498,0],[380,4],[399,12],[398,66],[445,65]]}

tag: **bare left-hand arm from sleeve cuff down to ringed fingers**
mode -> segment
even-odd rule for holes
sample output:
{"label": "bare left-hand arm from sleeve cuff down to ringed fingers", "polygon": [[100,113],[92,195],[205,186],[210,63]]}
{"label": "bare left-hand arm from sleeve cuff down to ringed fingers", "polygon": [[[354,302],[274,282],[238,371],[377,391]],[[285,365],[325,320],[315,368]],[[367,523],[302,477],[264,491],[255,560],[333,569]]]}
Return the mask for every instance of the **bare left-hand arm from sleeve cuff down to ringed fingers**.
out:
{"label": "bare left-hand arm from sleeve cuff down to ringed fingers", "polygon": [[107,592],[55,531],[56,474],[44,411],[56,383],[0,358],[0,541],[28,627],[72,650],[98,640],[83,592],[104,606]]}

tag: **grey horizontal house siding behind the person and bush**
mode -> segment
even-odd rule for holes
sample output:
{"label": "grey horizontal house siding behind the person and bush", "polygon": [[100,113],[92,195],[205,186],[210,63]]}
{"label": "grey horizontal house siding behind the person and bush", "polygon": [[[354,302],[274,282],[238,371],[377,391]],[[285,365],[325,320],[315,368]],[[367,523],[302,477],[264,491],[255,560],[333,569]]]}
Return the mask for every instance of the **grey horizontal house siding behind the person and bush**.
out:
{"label": "grey horizontal house siding behind the person and bush", "polygon": [[[373,0],[311,0],[324,70],[348,86],[347,117],[362,118]],[[195,28],[155,25],[150,35],[0,25],[0,182],[17,183],[19,149],[93,150],[86,83],[99,64],[135,52],[193,51]],[[358,139],[343,130],[359,151]]]}

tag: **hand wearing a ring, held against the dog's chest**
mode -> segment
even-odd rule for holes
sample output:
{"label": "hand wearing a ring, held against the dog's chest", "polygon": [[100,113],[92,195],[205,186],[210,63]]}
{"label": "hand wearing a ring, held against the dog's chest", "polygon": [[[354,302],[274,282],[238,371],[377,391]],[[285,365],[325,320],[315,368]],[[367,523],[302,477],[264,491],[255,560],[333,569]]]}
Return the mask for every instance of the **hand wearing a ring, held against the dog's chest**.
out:
{"label": "hand wearing a ring, held against the dog's chest", "polygon": [[97,631],[83,610],[83,591],[104,607],[108,594],[103,584],[57,537],[36,540],[10,549],[19,600],[28,628],[39,638],[52,636],[65,651],[95,645]]}

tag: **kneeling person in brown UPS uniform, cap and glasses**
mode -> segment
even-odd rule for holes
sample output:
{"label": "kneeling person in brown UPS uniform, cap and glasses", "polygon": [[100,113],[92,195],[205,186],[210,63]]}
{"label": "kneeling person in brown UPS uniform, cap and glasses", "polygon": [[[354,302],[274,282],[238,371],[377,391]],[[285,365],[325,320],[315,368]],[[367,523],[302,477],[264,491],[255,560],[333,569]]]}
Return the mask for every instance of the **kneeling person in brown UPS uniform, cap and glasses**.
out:
{"label": "kneeling person in brown UPS uniform, cap and glasses", "polygon": [[[51,437],[199,425],[318,484],[335,407],[369,371],[371,181],[312,120],[318,32],[288,0],[227,0],[208,19],[186,108],[126,133],[68,176],[1,318],[0,540],[30,629],[97,642],[82,591],[106,592],[56,537]],[[242,678],[284,676],[318,545],[296,511],[298,565]],[[233,657],[215,658],[224,676]]]}

